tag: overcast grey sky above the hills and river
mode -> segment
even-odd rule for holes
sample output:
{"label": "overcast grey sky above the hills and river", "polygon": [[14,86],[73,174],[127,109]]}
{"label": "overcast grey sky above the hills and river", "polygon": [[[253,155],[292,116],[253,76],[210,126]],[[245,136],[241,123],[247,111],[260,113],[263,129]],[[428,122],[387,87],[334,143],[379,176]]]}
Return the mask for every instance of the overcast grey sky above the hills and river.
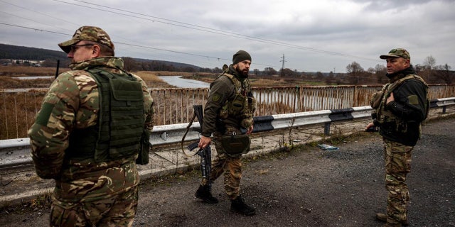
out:
{"label": "overcast grey sky above the hills and river", "polygon": [[455,0],[0,0],[0,43],[60,50],[80,26],[98,26],[116,55],[222,67],[237,50],[252,69],[346,72],[385,65],[406,48],[455,69]]}

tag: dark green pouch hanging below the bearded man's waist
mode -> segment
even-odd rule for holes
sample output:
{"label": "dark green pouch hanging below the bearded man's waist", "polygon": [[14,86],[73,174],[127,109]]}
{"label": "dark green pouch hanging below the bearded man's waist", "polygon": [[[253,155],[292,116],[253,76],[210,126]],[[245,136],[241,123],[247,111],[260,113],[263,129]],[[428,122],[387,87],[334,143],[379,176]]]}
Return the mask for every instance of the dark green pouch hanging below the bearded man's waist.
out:
{"label": "dark green pouch hanging below the bearded man's waist", "polygon": [[248,135],[223,135],[221,145],[226,155],[237,157],[250,151],[250,136]]}

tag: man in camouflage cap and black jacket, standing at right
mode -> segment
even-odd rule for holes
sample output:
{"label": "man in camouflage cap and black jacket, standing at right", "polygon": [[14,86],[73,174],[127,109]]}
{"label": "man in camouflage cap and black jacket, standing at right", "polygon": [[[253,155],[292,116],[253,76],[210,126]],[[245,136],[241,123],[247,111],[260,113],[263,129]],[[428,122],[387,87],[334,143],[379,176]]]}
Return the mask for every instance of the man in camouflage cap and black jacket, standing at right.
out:
{"label": "man in camouflage cap and black jacket, standing at right", "polygon": [[365,128],[379,126],[384,141],[387,213],[376,214],[376,218],[385,221],[385,226],[407,226],[410,193],[406,175],[412,149],[420,138],[420,124],[428,115],[428,86],[410,65],[407,50],[392,49],[380,58],[387,62],[390,82],[373,95],[373,122]]}

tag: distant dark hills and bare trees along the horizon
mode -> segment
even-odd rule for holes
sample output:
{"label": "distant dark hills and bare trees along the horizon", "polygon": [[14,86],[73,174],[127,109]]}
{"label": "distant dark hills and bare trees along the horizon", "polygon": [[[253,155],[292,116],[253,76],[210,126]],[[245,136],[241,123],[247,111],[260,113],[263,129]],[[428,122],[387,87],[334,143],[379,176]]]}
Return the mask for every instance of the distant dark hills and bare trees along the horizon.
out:
{"label": "distant dark hills and bare trees along the horizon", "polygon": [[[122,57],[124,67],[127,71],[170,71],[170,72],[223,72],[219,67],[213,69],[197,67],[179,62],[167,62],[161,60],[144,60],[132,57]],[[3,59],[3,60],[2,60]],[[0,44],[0,62],[7,60],[40,60],[43,67],[55,67],[57,60],[60,60],[60,67],[68,67],[70,59],[62,51],[45,50],[39,48],[26,48],[14,45]],[[11,62],[18,65],[31,65],[28,61]],[[437,65],[436,59],[429,56],[424,59],[422,65],[414,65],[414,69],[429,84],[452,84],[455,83],[455,72],[450,65]],[[286,77],[291,79],[302,79],[308,82],[324,82],[325,84],[385,84],[387,82],[385,64],[376,65],[365,70],[358,62],[352,62],[346,66],[346,72],[299,72],[284,68],[279,71],[272,67],[265,67],[264,70],[254,69],[255,76]]]}

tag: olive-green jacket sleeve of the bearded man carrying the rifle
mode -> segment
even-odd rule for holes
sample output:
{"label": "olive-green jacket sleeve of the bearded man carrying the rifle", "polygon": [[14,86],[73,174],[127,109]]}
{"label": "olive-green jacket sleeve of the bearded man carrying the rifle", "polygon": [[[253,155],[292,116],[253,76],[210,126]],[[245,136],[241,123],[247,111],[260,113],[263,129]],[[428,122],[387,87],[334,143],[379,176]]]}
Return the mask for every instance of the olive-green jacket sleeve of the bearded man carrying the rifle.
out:
{"label": "olive-green jacket sleeve of the bearded man carrying the rifle", "polygon": [[209,137],[216,131],[216,121],[225,101],[235,95],[235,86],[225,76],[218,77],[210,84],[210,94],[204,108],[202,135]]}

